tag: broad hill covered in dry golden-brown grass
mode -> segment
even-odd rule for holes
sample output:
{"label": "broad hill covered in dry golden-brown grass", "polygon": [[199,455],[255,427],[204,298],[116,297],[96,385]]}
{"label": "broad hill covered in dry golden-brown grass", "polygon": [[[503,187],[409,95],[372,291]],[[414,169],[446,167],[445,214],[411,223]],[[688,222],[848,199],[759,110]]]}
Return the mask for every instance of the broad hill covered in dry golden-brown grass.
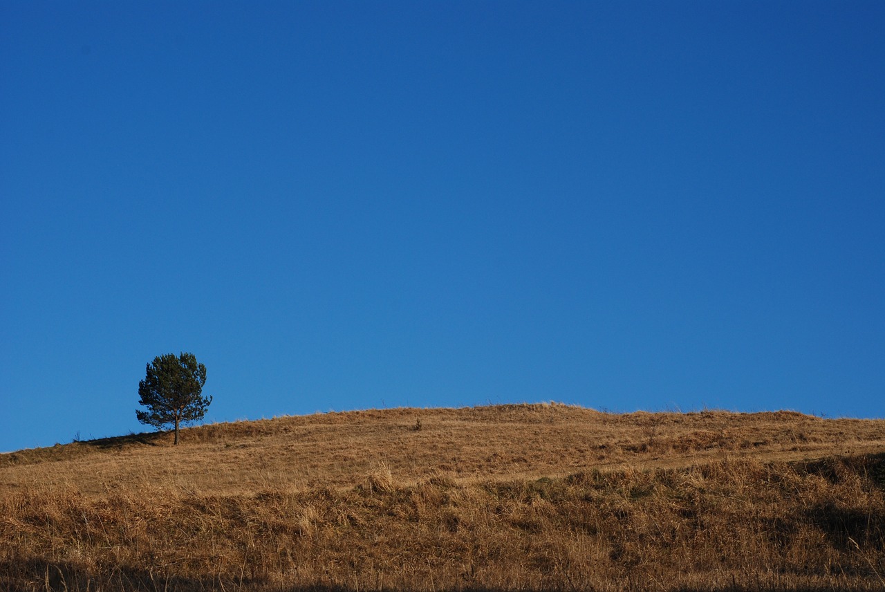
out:
{"label": "broad hill covered in dry golden-brown grass", "polygon": [[0,588],[879,590],[885,421],[349,411],[0,455]]}

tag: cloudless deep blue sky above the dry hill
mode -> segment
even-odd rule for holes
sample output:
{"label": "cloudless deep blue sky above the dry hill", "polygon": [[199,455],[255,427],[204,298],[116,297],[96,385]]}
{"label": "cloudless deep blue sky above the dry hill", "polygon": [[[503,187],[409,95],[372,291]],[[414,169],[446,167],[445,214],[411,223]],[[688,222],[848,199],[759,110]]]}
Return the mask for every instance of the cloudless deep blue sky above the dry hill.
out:
{"label": "cloudless deep blue sky above the dry hill", "polygon": [[556,400],[885,415],[881,2],[0,2],[0,450]]}

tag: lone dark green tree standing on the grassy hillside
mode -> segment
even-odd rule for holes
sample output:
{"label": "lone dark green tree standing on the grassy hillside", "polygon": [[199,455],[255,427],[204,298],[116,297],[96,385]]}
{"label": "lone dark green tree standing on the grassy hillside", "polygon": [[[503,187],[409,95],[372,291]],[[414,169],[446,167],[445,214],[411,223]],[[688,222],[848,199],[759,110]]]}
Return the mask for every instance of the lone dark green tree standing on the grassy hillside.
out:
{"label": "lone dark green tree standing on the grassy hillside", "polygon": [[135,410],[142,424],[161,428],[175,426],[175,444],[182,421],[203,419],[211,396],[201,396],[206,383],[206,366],[196,363],[191,353],[165,354],[148,364],[143,381],[138,383],[138,404],[147,411]]}

